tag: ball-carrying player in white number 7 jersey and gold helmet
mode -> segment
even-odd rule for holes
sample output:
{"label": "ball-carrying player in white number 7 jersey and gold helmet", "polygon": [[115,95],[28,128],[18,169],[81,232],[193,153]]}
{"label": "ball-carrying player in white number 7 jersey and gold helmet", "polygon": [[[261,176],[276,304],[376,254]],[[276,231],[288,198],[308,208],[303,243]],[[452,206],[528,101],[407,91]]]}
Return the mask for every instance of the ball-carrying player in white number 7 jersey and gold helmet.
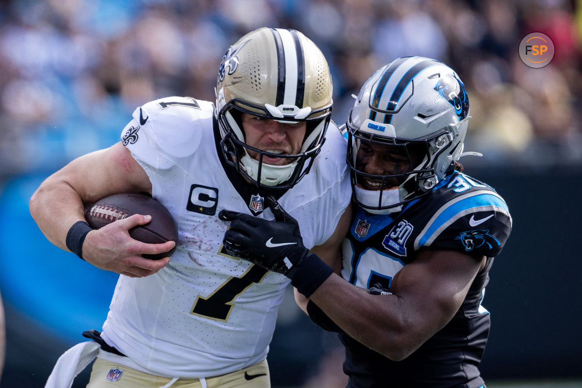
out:
{"label": "ball-carrying player in white number 7 jersey and gold helmet", "polygon": [[[304,243],[339,254],[351,196],[345,139],[331,122],[332,81],[320,49],[295,30],[260,28],[230,46],[216,105],[168,97],[133,113],[121,141],[73,160],[34,193],[30,211],[52,243],[120,274],[102,332],[70,349],[47,387],[62,388],[95,354],[88,387],[269,387],[267,357],[289,279],[229,256],[222,211],[273,219],[277,199]],[[141,243],[132,215],[92,230],[83,206],[147,192],[179,240]],[[273,198],[267,200],[267,198]],[[271,201],[271,202],[269,202]],[[303,286],[308,287],[305,283]],[[98,348],[99,347],[99,348]]]}

